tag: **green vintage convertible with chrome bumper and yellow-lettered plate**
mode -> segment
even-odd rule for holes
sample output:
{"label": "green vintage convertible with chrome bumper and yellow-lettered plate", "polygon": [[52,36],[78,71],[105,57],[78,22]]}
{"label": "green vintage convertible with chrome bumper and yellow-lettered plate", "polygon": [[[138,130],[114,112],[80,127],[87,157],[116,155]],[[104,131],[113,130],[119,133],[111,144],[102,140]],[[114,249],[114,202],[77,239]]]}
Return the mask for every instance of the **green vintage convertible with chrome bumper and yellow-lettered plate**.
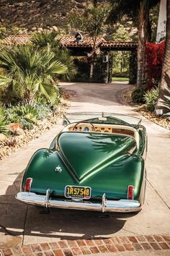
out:
{"label": "green vintage convertible with chrome bumper and yellow-lettered plate", "polygon": [[72,113],[37,150],[17,199],[45,208],[135,212],[146,190],[146,129],[133,116]]}

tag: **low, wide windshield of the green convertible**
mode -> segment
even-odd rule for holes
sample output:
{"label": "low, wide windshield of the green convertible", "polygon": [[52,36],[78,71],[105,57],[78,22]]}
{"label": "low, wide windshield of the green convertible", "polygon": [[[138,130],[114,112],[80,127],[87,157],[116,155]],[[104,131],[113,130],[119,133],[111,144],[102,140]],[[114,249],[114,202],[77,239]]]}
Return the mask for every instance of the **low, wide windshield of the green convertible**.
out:
{"label": "low, wide windshield of the green convertible", "polygon": [[138,127],[141,119],[107,112],[77,112],[64,115],[64,121],[67,121],[68,124],[78,121],[90,121],[95,124],[119,124]]}

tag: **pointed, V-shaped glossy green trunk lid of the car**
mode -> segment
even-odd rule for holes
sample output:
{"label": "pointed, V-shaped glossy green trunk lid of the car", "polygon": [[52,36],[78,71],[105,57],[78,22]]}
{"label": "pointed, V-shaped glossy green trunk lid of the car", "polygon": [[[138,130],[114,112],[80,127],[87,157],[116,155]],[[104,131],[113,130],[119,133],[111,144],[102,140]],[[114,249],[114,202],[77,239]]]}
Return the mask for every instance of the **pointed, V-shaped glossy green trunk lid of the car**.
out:
{"label": "pointed, V-shaped glossy green trunk lid of the car", "polygon": [[58,148],[80,182],[102,171],[111,161],[135,149],[135,139],[126,135],[63,132]]}

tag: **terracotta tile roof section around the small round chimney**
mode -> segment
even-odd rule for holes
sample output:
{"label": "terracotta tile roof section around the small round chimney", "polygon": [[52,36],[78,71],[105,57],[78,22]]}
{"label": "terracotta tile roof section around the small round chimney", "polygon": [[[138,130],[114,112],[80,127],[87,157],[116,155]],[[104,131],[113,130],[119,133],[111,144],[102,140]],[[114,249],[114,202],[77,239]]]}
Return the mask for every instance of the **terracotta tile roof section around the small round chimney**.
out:
{"label": "terracotta tile roof section around the small round chimney", "polygon": [[[92,47],[94,45],[92,38],[88,37],[87,35],[84,35],[83,40],[79,42],[75,41],[74,35],[63,35],[60,37],[60,39],[62,46],[66,47]],[[104,38],[98,38],[97,46],[103,42],[105,42]]]}

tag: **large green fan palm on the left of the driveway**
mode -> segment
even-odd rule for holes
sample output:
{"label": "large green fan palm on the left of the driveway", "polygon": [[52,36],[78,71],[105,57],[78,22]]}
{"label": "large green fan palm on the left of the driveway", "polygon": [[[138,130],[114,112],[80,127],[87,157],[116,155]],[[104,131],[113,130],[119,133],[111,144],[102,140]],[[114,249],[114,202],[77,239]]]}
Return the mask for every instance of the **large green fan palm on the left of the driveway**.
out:
{"label": "large green fan palm on the left of the driveway", "polygon": [[0,85],[6,86],[16,98],[34,101],[38,93],[53,103],[58,91],[56,77],[65,74],[67,67],[48,48],[34,46],[4,48],[0,52]]}

